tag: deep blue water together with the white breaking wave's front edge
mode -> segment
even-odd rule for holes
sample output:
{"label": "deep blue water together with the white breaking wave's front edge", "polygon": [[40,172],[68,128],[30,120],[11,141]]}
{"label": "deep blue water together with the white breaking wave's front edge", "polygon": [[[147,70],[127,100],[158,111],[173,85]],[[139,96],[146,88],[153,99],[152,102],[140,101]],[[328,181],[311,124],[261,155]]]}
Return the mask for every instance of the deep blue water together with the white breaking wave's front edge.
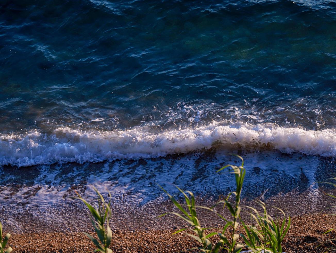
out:
{"label": "deep blue water together with the white breaking wave's front edge", "polygon": [[333,2],[6,1],[0,34],[0,165],[336,153]]}

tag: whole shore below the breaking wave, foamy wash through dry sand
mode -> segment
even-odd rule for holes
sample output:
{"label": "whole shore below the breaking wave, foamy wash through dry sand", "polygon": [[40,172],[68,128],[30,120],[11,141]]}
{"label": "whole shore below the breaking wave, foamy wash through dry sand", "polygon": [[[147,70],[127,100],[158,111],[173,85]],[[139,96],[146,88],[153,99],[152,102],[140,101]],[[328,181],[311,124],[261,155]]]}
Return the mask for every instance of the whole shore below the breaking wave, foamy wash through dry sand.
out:
{"label": "whole shore below the breaking wave, foamy wash through dry sand", "polygon": [[[336,217],[324,215],[327,212],[336,213],[335,209],[327,209],[335,205],[335,200],[325,195],[325,192],[332,193],[334,189],[314,182],[326,180],[334,171],[331,160],[301,157],[298,154],[279,155],[277,159],[281,163],[277,163],[275,167],[266,167],[268,159],[264,158],[273,157],[272,153],[260,154],[259,160],[254,160],[251,155],[246,160],[250,160],[249,164],[260,167],[248,168],[241,206],[256,207],[253,201],[260,199],[269,207],[283,209],[287,215],[291,215],[293,221],[290,232],[285,237],[284,251],[321,252],[323,248],[321,251],[320,248],[314,248],[324,241],[336,238],[334,231],[323,235],[336,224]],[[9,245],[14,252],[93,252],[94,245],[80,233],[85,231],[93,235],[94,232],[87,208],[74,199],[77,196],[76,190],[90,203],[95,202],[95,192],[90,189],[93,181],[95,185],[100,184],[104,196],[107,195],[107,190],[114,191],[111,199],[113,216],[110,220],[111,228],[115,231],[112,246],[114,252],[179,252],[194,248],[197,246],[195,241],[184,234],[171,236],[174,229],[183,228],[185,222],[172,216],[157,218],[160,214],[177,209],[167,195],[163,192],[157,194],[159,187],[154,182],[158,181],[151,176],[166,176],[166,179],[170,175],[171,183],[167,181],[165,188],[176,197],[178,190],[174,184],[187,182],[184,188],[195,192],[197,205],[209,207],[234,187],[231,175],[213,175],[213,165],[236,161],[230,157],[222,158],[221,162],[215,156],[204,154],[195,158],[190,165],[193,170],[176,166],[184,164],[188,158],[190,157],[180,157],[177,161],[158,159],[97,163],[80,168],[77,168],[77,164],[50,166],[47,169],[7,168],[10,175],[16,178],[15,182],[0,189],[3,197],[0,203],[4,204],[0,209],[1,221],[4,232],[12,234]],[[309,161],[318,163],[309,165]],[[160,163],[161,167],[155,167],[151,163]],[[166,168],[164,165],[168,164],[170,167]],[[169,170],[172,167],[177,168],[174,177]],[[181,176],[179,173],[189,174]],[[89,178],[93,180],[89,181]],[[212,181],[205,185],[205,179]],[[3,181],[3,184],[6,182]],[[136,185],[138,188],[135,187],[133,191],[132,187]],[[203,192],[200,192],[201,188]],[[179,202],[183,203],[183,200],[179,199]],[[217,208],[224,217],[230,217],[227,211],[222,212],[221,207]],[[273,217],[277,214],[274,210],[268,211]],[[243,214],[242,217],[247,221]],[[221,220],[206,210],[200,209],[198,218],[203,227],[221,227]]]}

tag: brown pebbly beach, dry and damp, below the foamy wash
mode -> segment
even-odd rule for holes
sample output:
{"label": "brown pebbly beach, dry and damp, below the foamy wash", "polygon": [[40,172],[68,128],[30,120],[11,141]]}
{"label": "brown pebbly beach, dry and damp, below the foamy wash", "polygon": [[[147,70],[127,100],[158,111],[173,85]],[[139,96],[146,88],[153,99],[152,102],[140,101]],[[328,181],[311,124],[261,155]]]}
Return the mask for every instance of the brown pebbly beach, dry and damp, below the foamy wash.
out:
{"label": "brown pebbly beach, dry and damp, below the foamy wash", "polygon": [[[196,200],[198,199],[196,198]],[[319,196],[318,202],[314,204],[315,207],[313,209],[308,208],[310,206],[308,202],[304,206],[303,200],[307,200],[306,192],[301,194],[291,192],[289,196],[275,196],[274,199],[268,199],[266,202],[269,206],[279,206],[281,203],[281,207],[284,207],[286,214],[291,215],[291,227],[282,244],[284,251],[286,253],[323,252],[329,247],[336,246],[333,242],[323,244],[332,238],[336,238],[335,231],[323,234],[336,224],[336,216],[327,215],[326,212],[336,213],[334,209],[326,210],[326,207],[330,206],[333,200],[330,200],[323,193]],[[198,202],[200,205],[210,204],[209,200],[199,199]],[[250,205],[252,202],[242,201],[243,205]],[[124,213],[120,213],[117,208],[112,208],[113,216],[110,224],[113,231],[111,244],[113,252],[169,253],[197,247],[196,241],[183,233],[172,235],[174,231],[186,226],[184,221],[172,215],[157,218],[159,214],[166,211],[174,211],[170,201],[164,201],[160,205],[153,206],[153,208],[156,210],[138,208],[124,210]],[[217,208],[221,210],[221,207]],[[309,214],[304,214],[305,210]],[[48,224],[54,225],[54,227],[52,229],[50,227],[45,228],[43,223],[39,223],[39,220],[29,221],[24,216],[21,218],[25,227],[22,226],[23,231],[21,232],[12,233],[10,227],[3,224],[4,232],[10,232],[12,235],[8,246],[13,248],[13,252],[24,253],[94,252],[96,248],[93,243],[81,233],[81,231],[85,231],[95,236],[87,216],[87,210],[80,206],[77,211],[79,212],[70,213],[67,210],[69,216],[65,217],[67,220],[63,229],[60,229],[61,224]],[[272,214],[272,209],[269,211]],[[229,217],[229,214],[223,213],[223,215]],[[199,209],[198,217],[202,226],[215,227],[213,230],[209,230],[209,233],[220,231],[222,221],[216,215]],[[20,217],[17,218],[20,219]],[[246,215],[242,216],[242,218],[247,224],[249,223]],[[80,225],[80,227],[76,226],[76,224]],[[244,229],[239,226],[238,230],[243,232]],[[323,245],[316,249],[320,244]]]}

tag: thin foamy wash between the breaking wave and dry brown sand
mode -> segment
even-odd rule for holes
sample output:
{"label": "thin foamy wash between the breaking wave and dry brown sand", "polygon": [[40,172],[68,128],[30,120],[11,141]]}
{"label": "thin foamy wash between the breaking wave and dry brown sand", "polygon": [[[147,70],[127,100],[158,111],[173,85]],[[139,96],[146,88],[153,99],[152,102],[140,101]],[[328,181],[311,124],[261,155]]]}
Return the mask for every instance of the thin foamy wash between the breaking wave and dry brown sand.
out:
{"label": "thin foamy wash between the breaking wave and dry brown sand", "polygon": [[[281,207],[291,215],[326,211],[322,203],[324,191],[315,182],[325,180],[334,171],[332,158],[285,155],[279,151],[242,155],[246,164],[245,203],[255,198],[269,204],[282,200]],[[175,185],[191,190],[197,195],[198,204],[205,201],[211,206],[220,196],[235,189],[232,174],[216,173],[227,162],[238,165],[239,159],[212,149],[187,155],[84,165],[68,163],[20,169],[5,166],[0,178],[3,207],[0,214],[5,217],[7,228],[16,232],[32,228],[87,229],[83,228],[87,224],[80,222],[86,217],[86,209],[75,198],[75,190],[85,199],[94,200],[96,195],[91,186],[95,186],[104,196],[108,191],[112,194],[114,227],[124,229],[131,219],[143,214],[145,218],[141,222],[160,223],[157,216],[164,212],[166,206],[162,203],[168,197],[158,184],[175,197],[179,197]],[[285,205],[283,198],[290,204]],[[41,222],[42,227],[38,225]],[[135,222],[134,227],[139,226],[139,222]]]}

